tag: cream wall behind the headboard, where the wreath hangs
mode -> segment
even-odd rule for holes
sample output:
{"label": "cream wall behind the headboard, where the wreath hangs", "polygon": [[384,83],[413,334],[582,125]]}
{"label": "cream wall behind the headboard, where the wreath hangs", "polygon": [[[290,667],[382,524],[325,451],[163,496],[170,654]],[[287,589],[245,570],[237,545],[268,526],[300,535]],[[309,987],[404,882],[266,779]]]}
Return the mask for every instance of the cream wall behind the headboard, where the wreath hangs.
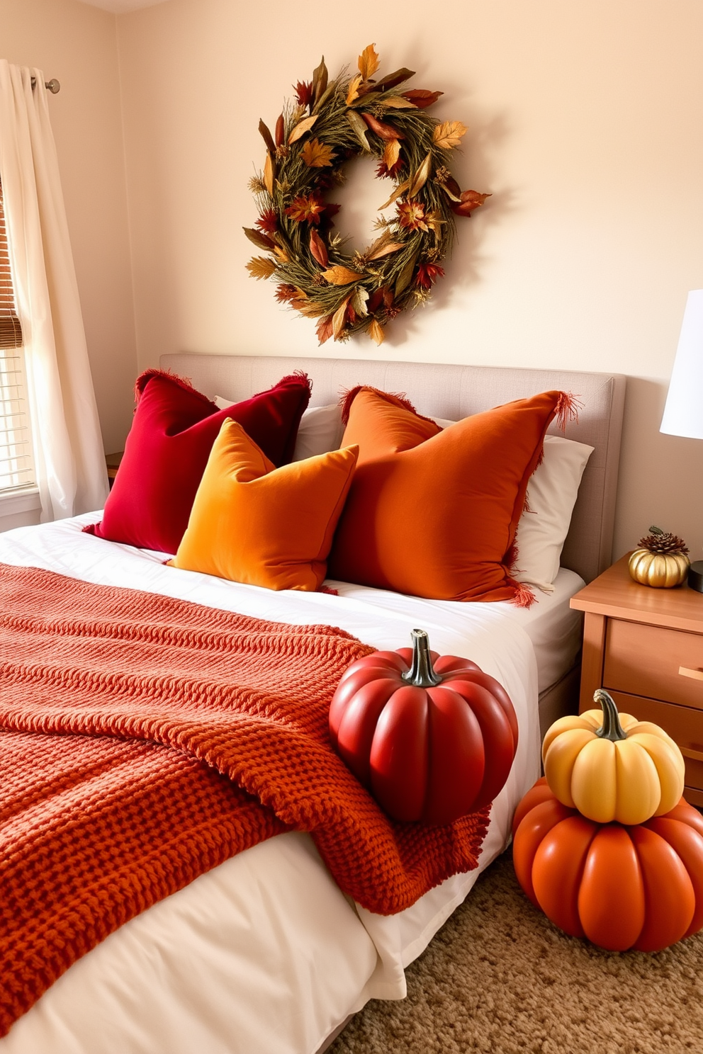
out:
{"label": "cream wall behind the headboard, where the wreath hangs", "polygon": [[[630,376],[614,554],[650,523],[703,557],[703,444],[659,423],[688,289],[703,287],[703,4],[676,0],[171,0],[118,18],[139,366],[162,352],[382,354]],[[372,14],[371,14],[372,13]],[[262,164],[291,84],[371,41],[382,72],[441,89],[469,124],[455,172],[492,192],[460,221],[431,306],[318,349],[245,271]],[[358,170],[363,169],[359,164]],[[352,175],[356,232],[386,186]],[[360,213],[360,214],[359,214]],[[359,238],[362,235],[359,235]]]}

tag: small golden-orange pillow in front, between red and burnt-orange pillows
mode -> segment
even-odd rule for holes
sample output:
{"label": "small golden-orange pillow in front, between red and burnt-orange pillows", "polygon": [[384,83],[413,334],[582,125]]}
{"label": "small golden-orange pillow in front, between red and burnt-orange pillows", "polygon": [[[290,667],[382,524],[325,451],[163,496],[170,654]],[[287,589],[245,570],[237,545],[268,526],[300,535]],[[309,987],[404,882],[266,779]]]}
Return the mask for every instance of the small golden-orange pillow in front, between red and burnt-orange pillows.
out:
{"label": "small golden-orange pillow in front, between red and burnt-orange pillows", "polygon": [[268,589],[317,589],[356,454],[332,450],[275,468],[227,418],[169,563]]}

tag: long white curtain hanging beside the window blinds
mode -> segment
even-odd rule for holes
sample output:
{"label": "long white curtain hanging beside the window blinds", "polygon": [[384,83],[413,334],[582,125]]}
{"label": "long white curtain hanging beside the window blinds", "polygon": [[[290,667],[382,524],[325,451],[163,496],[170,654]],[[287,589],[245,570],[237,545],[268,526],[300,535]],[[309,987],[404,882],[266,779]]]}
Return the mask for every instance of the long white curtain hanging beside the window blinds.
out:
{"label": "long white curtain hanging beside the window blinds", "polygon": [[41,519],[60,520],[102,508],[108,476],[44,75],[5,59],[0,59],[0,179]]}

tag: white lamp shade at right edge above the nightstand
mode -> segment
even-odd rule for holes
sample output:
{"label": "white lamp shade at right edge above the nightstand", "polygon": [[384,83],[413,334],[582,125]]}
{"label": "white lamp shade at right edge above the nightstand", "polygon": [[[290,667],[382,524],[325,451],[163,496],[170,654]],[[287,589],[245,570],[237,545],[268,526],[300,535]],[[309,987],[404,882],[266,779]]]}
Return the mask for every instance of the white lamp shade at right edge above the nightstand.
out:
{"label": "white lamp shade at right edge above the nightstand", "polygon": [[703,440],[703,289],[686,300],[660,432]]}

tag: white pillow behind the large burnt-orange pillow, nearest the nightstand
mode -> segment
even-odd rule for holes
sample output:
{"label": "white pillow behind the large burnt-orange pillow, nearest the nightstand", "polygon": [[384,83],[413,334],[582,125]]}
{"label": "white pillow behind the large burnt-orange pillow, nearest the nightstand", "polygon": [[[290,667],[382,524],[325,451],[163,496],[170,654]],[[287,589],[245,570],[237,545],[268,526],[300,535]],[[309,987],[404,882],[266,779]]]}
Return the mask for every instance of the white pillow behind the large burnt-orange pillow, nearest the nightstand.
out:
{"label": "white pillow behind the large burnt-orange pillow, nearest the nightstand", "polygon": [[[454,424],[433,419],[442,428]],[[518,560],[510,572],[516,582],[553,592],[579,484],[593,449],[561,435],[545,435],[542,463],[527,488],[529,511],[523,512],[518,524]]]}

